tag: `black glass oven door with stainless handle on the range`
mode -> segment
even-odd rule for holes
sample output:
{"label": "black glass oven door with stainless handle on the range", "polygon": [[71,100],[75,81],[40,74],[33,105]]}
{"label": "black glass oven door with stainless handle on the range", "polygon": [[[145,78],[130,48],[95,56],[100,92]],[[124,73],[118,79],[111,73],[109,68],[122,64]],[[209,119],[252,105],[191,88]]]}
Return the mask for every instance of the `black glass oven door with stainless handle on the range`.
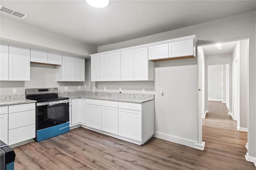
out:
{"label": "black glass oven door with stainless handle on the range", "polygon": [[69,122],[69,100],[36,103],[36,130]]}

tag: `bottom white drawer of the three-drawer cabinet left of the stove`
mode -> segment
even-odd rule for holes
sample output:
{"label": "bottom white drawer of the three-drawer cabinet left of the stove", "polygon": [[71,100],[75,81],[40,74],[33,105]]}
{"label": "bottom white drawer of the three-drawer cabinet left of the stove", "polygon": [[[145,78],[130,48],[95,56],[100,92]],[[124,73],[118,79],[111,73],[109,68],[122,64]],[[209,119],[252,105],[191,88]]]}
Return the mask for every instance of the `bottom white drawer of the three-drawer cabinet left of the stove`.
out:
{"label": "bottom white drawer of the three-drawer cabinet left of the stove", "polygon": [[36,137],[36,125],[29,125],[26,127],[15,128],[12,130],[8,130],[9,138],[8,144],[16,144],[18,142],[23,142],[28,139],[32,139]]}

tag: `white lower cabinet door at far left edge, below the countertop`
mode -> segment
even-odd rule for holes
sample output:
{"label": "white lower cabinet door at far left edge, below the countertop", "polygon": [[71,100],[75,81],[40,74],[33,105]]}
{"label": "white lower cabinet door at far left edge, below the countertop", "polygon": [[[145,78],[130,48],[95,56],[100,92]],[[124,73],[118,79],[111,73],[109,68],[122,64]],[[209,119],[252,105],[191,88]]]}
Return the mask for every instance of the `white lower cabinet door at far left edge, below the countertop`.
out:
{"label": "white lower cabinet door at far left edge, below the countertop", "polygon": [[0,115],[0,140],[8,144],[8,114]]}

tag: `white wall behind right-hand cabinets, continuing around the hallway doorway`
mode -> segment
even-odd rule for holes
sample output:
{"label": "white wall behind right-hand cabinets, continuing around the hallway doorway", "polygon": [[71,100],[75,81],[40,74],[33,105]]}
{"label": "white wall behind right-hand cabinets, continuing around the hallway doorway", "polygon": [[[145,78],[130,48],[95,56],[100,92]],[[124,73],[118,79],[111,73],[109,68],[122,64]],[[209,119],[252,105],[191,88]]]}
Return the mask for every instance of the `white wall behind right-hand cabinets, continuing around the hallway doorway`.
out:
{"label": "white wall behind right-hand cabinets, continuing around the hallway doorway", "polygon": [[[137,38],[134,40],[129,40],[126,42],[120,42],[120,43],[114,43],[109,45],[102,45],[98,47],[98,52],[103,51],[109,51],[113,49],[119,49],[124,47],[131,47],[134,45],[141,45],[145,43],[151,43],[151,42],[158,42],[162,40],[168,40],[172,38],[178,38],[183,36],[189,36],[194,35],[198,37],[198,43],[197,45],[207,44],[207,43],[213,43],[213,42],[226,42],[230,40],[238,40],[242,38],[250,38],[250,85],[249,85],[249,124],[251,131],[249,132],[248,136],[248,154],[250,156],[256,156],[256,126],[255,126],[255,38],[256,38],[256,17],[255,17],[255,11],[247,12],[244,14],[236,15],[236,16],[230,16],[210,22],[205,22],[202,24],[197,24],[193,26],[188,26],[185,28],[180,28],[177,30],[171,30],[168,32],[163,32],[160,34],[154,34],[151,36],[146,36],[142,38]],[[194,105],[197,105],[197,87],[194,85],[194,83],[197,83],[197,69],[196,65],[190,65],[189,69],[188,65],[186,65],[186,62],[191,61],[191,59],[182,59],[180,60],[179,64],[174,66],[176,64],[176,61],[168,61],[165,62],[155,62],[155,77],[156,77],[154,83],[150,81],[145,82],[132,82],[132,83],[126,83],[126,82],[98,82],[98,87],[104,87],[104,85],[108,85],[108,89],[116,89],[117,87],[122,87],[122,91],[126,92],[133,92],[137,93],[141,91],[141,87],[145,87],[146,93],[153,93],[156,95],[155,103],[155,124],[156,128],[155,130],[158,132],[163,132],[166,138],[178,138],[179,136],[183,136],[184,140],[194,140],[195,137],[198,134],[198,120],[197,119],[190,119],[190,117],[184,117],[184,115],[190,115],[192,117],[197,117],[197,108],[194,107]],[[156,66],[162,65],[162,68],[158,68]],[[165,66],[164,66],[165,65]],[[177,68],[176,68],[177,67]],[[184,77],[175,77],[176,79],[173,79],[172,81],[168,78],[170,72],[166,71],[175,71],[175,70],[186,70],[186,75]],[[183,72],[182,72],[183,73]],[[172,74],[172,73],[171,73]],[[178,74],[178,72],[177,72]],[[188,84],[192,84],[191,87],[186,87],[188,89],[183,89],[184,85],[182,85],[181,82],[184,82],[184,79],[190,80],[191,82],[186,81]],[[126,86],[126,84],[134,85],[134,89],[131,87]],[[179,84],[180,86],[178,86]],[[158,97],[161,89],[161,85],[164,85],[167,88],[167,91],[165,91],[166,97]],[[158,87],[159,86],[159,87]],[[128,89],[126,89],[126,87]],[[180,91],[181,94],[184,94],[184,91],[188,91],[187,97],[184,101],[180,101],[180,103],[177,103],[176,106],[169,107],[166,106],[166,99],[169,99],[173,97],[172,100],[176,97],[176,95],[173,96],[173,88],[176,87],[176,91]],[[100,88],[99,88],[100,89]],[[170,89],[170,91],[168,91]],[[181,99],[182,97],[179,97]],[[172,101],[171,100],[171,101]],[[189,100],[190,103],[193,103],[193,105],[185,106],[184,103],[186,103]],[[195,103],[194,103],[195,102]],[[163,104],[162,104],[163,103]],[[172,109],[177,110],[177,108],[184,110],[182,114],[178,114],[181,112],[172,112]],[[163,114],[163,113],[168,113]],[[177,120],[182,120],[178,124],[180,124],[180,128],[171,129],[172,125],[177,124]],[[188,126],[189,125],[189,126]],[[189,131],[192,135],[188,134],[187,131]],[[182,139],[183,140],[183,139]],[[174,141],[174,140],[172,140]],[[174,142],[180,142],[180,140],[176,140]]]}

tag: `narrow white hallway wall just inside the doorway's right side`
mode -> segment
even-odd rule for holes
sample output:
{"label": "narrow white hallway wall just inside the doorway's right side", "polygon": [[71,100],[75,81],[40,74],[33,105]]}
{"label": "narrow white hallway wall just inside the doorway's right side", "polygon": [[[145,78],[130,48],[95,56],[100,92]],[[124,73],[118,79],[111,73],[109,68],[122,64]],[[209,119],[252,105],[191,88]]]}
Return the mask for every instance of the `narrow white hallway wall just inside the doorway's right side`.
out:
{"label": "narrow white hallway wall just inside the doorway's right side", "polygon": [[244,130],[248,127],[248,45],[248,40],[240,41],[240,122],[238,128],[244,128]]}

